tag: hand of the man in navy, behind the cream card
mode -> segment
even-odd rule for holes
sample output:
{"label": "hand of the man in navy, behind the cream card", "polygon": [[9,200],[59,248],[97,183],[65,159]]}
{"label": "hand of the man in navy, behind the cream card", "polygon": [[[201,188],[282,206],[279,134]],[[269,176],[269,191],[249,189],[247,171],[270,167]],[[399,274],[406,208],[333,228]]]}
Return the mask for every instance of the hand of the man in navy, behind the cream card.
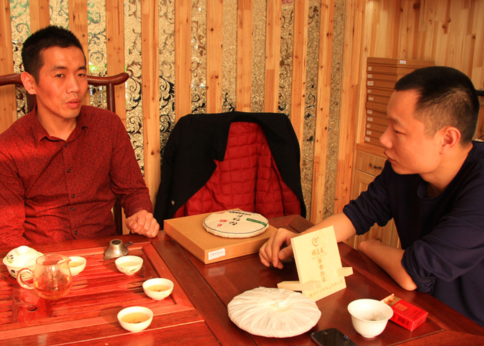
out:
{"label": "hand of the man in navy, behind the cream card", "polygon": [[[277,232],[272,233],[266,244],[263,244],[259,250],[259,257],[264,266],[274,266],[274,268],[281,269],[283,267],[281,261],[286,260],[292,255],[292,245],[290,239],[295,237],[297,233],[293,233],[285,228],[279,228]],[[283,244],[287,247],[282,248]]]}

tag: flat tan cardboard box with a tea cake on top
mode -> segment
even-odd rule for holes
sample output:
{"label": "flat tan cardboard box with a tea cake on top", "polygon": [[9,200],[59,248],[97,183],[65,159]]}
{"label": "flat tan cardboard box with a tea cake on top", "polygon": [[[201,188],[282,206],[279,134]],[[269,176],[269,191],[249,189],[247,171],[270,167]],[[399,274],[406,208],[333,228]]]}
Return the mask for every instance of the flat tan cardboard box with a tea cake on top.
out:
{"label": "flat tan cardboard box with a tea cake on top", "polygon": [[241,239],[218,237],[203,228],[203,221],[211,214],[212,212],[208,212],[178,217],[164,222],[165,233],[205,264],[258,253],[259,248],[277,230],[269,226],[264,233],[255,237]]}

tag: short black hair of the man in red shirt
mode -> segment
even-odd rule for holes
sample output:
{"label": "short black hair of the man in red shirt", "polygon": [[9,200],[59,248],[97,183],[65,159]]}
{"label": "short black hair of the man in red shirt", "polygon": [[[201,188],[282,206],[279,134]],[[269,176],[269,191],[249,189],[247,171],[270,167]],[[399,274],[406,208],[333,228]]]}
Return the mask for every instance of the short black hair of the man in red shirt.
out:
{"label": "short black hair of the man in red shirt", "polygon": [[86,62],[86,55],[82,49],[81,42],[71,31],[60,26],[47,26],[37,30],[26,39],[22,47],[21,56],[24,71],[33,75],[35,80],[38,81],[39,71],[44,65],[41,55],[44,49],[50,47],[68,48],[71,46],[75,46],[82,51],[84,62]]}

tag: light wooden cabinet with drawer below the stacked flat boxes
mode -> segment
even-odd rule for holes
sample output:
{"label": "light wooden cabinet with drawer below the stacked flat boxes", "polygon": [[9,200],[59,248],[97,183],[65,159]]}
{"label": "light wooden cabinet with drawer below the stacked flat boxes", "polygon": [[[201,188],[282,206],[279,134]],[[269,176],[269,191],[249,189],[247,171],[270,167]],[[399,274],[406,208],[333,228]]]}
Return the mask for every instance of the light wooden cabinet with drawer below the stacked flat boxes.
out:
{"label": "light wooden cabinet with drawer below the stacked flat boxes", "polygon": [[[380,174],[385,163],[385,158],[362,150],[356,151],[355,170],[353,173],[353,188],[351,190],[351,199],[356,199],[360,193],[366,191],[368,185]],[[395,228],[395,223],[391,219],[384,227],[377,224],[364,235],[356,235],[346,241],[346,244],[358,248],[361,242],[368,239],[378,239],[383,244],[400,248],[400,239]]]}

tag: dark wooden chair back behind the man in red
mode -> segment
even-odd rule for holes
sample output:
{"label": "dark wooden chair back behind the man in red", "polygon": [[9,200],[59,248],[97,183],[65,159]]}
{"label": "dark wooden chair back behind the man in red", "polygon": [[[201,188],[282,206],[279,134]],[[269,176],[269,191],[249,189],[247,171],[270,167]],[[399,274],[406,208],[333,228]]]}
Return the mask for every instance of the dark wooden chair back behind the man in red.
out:
{"label": "dark wooden chair back behind the man in red", "polygon": [[[17,85],[23,86],[20,79],[21,73],[10,73],[8,75],[0,76],[0,86],[3,85]],[[106,103],[109,111],[115,112],[115,95],[114,86],[122,84],[129,78],[128,73],[122,72],[118,75],[111,75],[106,77],[98,77],[95,75],[88,75],[87,82],[93,86],[105,86],[106,87]],[[35,95],[27,93],[27,111],[31,111],[35,106]],[[122,222],[122,207],[120,201],[116,200],[113,207],[114,222],[116,225],[116,231],[119,235],[122,235],[123,222]]]}

